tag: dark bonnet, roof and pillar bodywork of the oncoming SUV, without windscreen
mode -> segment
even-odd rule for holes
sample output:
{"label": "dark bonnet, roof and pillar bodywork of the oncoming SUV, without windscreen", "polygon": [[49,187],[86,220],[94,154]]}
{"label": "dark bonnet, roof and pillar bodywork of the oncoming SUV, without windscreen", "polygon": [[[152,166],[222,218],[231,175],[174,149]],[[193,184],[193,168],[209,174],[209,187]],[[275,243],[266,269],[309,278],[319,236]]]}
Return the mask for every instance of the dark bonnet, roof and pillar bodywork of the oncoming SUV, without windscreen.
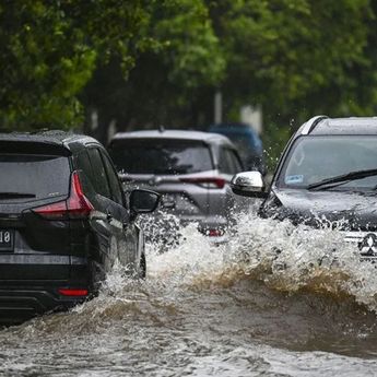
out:
{"label": "dark bonnet, roof and pillar bodywork of the oncoming SUV, without windscreen", "polygon": [[377,232],[377,191],[343,190],[341,187],[309,190],[282,187],[279,181],[292,145],[298,138],[377,134],[377,118],[344,118],[331,127],[329,121],[331,119],[325,116],[318,117],[307,134],[302,132],[306,126],[304,123],[285,145],[269,189],[262,195],[250,196],[263,198],[258,212],[261,217],[286,219],[294,224],[306,224],[317,228],[330,226],[349,232]]}

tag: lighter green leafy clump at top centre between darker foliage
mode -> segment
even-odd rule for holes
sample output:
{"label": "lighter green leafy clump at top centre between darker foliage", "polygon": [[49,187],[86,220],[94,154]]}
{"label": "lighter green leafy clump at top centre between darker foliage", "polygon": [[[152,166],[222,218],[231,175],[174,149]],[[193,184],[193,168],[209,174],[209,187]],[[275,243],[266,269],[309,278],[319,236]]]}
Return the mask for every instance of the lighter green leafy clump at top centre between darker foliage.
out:
{"label": "lighter green leafy clump at top centre between darker foliage", "polygon": [[166,47],[161,58],[170,82],[198,87],[222,79],[225,61],[201,0],[161,1],[153,14],[151,34]]}

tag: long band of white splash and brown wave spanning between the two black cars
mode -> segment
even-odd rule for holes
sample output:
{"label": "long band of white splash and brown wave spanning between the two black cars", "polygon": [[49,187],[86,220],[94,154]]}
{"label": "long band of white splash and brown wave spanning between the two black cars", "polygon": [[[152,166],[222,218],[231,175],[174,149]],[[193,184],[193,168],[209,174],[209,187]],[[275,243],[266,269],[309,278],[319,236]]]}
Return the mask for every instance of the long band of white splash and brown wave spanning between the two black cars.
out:
{"label": "long band of white splash and brown wave spanning between the two black cars", "polygon": [[149,244],[149,278],[172,286],[233,284],[239,279],[262,281],[268,287],[294,293],[309,291],[337,299],[353,297],[377,311],[377,274],[358,250],[331,226],[313,229],[288,221],[240,214],[229,244],[215,247],[197,231],[180,229],[181,243],[160,252]]}

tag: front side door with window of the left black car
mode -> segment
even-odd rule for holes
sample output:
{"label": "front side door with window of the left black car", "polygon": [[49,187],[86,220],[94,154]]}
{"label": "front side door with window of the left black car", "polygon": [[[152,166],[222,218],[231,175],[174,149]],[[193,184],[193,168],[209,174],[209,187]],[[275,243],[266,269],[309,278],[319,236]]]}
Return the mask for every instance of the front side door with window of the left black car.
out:
{"label": "front side door with window of the left black car", "polygon": [[117,259],[122,266],[128,267],[130,272],[134,272],[139,267],[142,252],[142,233],[136,222],[130,220],[130,212],[115,166],[106,151],[102,150],[101,156],[113,199],[113,205],[108,213],[113,216],[110,224],[117,240]]}

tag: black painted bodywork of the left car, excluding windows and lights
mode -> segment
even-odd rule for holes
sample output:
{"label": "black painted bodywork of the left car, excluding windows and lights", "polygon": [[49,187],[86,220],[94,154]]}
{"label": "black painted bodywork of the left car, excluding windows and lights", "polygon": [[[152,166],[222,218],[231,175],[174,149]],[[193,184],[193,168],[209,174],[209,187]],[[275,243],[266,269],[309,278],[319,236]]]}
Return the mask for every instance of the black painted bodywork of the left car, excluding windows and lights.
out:
{"label": "black painted bodywork of the left car, excluding windows and lights", "polygon": [[[108,158],[121,196],[121,202],[117,203],[113,200],[114,192],[111,198],[106,198],[86,185],[84,195],[94,211],[89,219],[74,220],[46,220],[34,211],[68,197],[0,202],[0,229],[14,232],[13,250],[0,251],[1,322],[22,321],[36,314],[69,308],[95,295],[117,258],[128,264],[130,272],[140,272],[144,258],[142,234],[130,217],[120,181],[102,144],[92,138],[59,133],[0,136],[0,145],[1,153],[63,155],[69,158],[71,177],[80,167],[75,156],[96,149],[102,158]],[[98,168],[92,167],[94,172]],[[79,176],[82,182],[89,182],[82,170]],[[59,293],[60,288],[87,290],[87,295],[64,296]]]}

